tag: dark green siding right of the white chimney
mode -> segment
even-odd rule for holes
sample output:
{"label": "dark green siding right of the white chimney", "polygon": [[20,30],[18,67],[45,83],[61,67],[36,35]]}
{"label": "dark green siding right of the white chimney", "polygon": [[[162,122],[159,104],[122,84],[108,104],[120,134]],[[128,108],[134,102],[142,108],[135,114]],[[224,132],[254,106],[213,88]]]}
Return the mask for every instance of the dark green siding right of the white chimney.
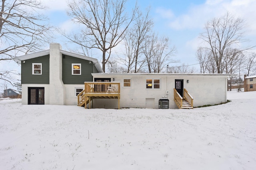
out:
{"label": "dark green siding right of the white chimney", "polygon": [[[72,63],[81,64],[81,75],[72,75]],[[88,60],[62,55],[62,81],[64,84],[92,82],[92,73],[95,71],[94,67],[93,62]]]}

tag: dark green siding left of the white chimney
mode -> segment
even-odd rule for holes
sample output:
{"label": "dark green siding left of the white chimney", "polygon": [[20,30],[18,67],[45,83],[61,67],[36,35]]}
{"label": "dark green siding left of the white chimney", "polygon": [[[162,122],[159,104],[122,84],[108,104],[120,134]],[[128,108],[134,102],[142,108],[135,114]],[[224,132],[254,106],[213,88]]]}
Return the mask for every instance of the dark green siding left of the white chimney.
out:
{"label": "dark green siding left of the white chimney", "polygon": [[[28,59],[21,62],[22,84],[49,84],[49,55]],[[32,74],[32,63],[42,63],[42,74]]]}

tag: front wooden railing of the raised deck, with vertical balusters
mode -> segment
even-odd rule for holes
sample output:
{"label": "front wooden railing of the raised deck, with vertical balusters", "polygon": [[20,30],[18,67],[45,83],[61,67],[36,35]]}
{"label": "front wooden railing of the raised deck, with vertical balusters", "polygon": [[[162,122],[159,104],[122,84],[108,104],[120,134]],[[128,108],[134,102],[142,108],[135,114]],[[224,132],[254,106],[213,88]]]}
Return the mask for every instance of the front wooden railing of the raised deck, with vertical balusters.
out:
{"label": "front wooden railing of the raised deck, with vertical balusters", "polygon": [[85,93],[120,93],[120,82],[84,82]]}

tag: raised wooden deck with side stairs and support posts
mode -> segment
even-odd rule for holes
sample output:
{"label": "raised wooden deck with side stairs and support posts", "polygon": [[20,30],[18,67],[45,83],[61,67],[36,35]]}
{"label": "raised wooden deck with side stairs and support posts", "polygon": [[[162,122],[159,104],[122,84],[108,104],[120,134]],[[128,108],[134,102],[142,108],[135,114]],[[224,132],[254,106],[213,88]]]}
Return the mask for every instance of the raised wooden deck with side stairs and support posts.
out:
{"label": "raised wooden deck with side stairs and support posts", "polygon": [[120,108],[120,82],[84,82],[84,90],[78,94],[78,106],[89,104],[93,99],[118,99]]}

